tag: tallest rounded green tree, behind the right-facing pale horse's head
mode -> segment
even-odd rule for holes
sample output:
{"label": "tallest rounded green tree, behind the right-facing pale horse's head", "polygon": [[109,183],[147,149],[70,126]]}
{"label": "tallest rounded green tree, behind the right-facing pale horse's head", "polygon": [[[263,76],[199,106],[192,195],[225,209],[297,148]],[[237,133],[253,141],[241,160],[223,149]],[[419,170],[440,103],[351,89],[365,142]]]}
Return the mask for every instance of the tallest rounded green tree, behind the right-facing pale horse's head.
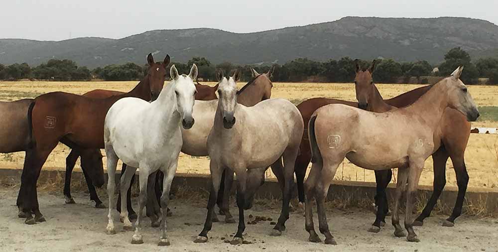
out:
{"label": "tallest rounded green tree, behind the right-facing pale horse's head", "polygon": [[448,76],[457,67],[464,66],[464,71],[460,79],[466,84],[477,83],[479,71],[471,62],[471,57],[465,50],[462,50],[460,47],[453,48],[444,55],[444,59],[445,61],[439,66],[440,75]]}

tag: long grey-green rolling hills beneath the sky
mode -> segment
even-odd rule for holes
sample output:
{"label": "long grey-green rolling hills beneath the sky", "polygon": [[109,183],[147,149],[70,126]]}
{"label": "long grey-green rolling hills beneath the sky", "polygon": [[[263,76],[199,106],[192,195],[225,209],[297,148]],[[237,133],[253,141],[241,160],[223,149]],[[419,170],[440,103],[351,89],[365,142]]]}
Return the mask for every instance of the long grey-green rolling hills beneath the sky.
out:
{"label": "long grey-green rolling hills beneath the sky", "polygon": [[327,60],[350,56],[438,63],[460,46],[476,57],[498,51],[498,26],[462,17],[344,17],[337,21],[254,33],[193,28],[152,30],[122,39],[97,37],[63,41],[0,39],[0,63],[38,65],[67,58],[90,68],[107,64],[145,63],[149,52],[173,61],[193,56],[213,63],[283,64],[298,57]]}

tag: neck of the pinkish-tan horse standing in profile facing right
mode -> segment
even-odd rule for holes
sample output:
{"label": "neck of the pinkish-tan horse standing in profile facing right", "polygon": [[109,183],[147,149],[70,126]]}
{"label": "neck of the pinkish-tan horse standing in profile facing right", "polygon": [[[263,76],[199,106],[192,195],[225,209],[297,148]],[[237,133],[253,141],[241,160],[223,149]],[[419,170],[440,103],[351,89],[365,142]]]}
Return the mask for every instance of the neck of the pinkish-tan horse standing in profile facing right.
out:
{"label": "neck of the pinkish-tan horse standing in profile facing right", "polygon": [[444,90],[446,85],[448,85],[447,80],[438,82],[416,102],[405,107],[404,110],[421,116],[427,124],[435,129],[439,125],[444,111],[449,106],[447,91]]}

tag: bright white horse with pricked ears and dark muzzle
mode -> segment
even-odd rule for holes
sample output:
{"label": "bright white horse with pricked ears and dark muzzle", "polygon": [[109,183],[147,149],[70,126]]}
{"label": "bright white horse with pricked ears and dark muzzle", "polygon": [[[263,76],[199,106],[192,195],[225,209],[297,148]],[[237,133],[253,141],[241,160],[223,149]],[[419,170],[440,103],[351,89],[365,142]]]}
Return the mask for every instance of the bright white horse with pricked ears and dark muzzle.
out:
{"label": "bright white horse with pricked ears and dark muzzle", "polygon": [[[149,175],[161,170],[165,176],[161,196],[161,238],[159,246],[169,245],[166,236],[166,208],[169,201],[171,181],[178,166],[178,156],[182,148],[183,128],[194,125],[192,108],[197,92],[194,80],[197,78],[197,66],[194,64],[190,74],[179,76],[176,67],[170,69],[172,81],[163,88],[157,100],[148,103],[137,98],[124,98],[116,102],[106,116],[104,141],[106,146],[109,181],[109,224],[108,234],[115,234],[113,221],[113,198],[115,190],[116,165],[118,159],[129,167],[121,176],[121,195],[126,195],[131,177],[136,168],[140,167],[140,195],[138,197],[138,217],[132,244],[143,243],[140,235],[143,207],[147,199],[147,181]],[[136,144],[140,143],[140,144]],[[155,195],[152,195],[153,197]],[[126,211],[126,201],[121,200],[121,217],[124,219],[124,229],[132,225]]]}

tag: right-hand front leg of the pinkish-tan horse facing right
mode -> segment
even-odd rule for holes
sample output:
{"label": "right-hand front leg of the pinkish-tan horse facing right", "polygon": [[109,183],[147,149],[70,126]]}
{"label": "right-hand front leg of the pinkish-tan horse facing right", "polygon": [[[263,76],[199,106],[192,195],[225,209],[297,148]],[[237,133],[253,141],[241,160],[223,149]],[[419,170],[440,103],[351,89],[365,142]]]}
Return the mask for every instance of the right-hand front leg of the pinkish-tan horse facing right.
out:
{"label": "right-hand front leg of the pinkish-tan horse facing right", "polygon": [[[418,161],[418,162],[417,162]],[[406,240],[408,242],[420,242],[417,238],[417,234],[413,230],[413,205],[415,203],[415,193],[417,191],[418,181],[420,180],[420,174],[422,174],[422,169],[424,168],[425,160],[410,160],[410,170],[408,175],[408,191],[406,192],[406,210],[405,210],[405,229],[408,231],[408,236]]]}

